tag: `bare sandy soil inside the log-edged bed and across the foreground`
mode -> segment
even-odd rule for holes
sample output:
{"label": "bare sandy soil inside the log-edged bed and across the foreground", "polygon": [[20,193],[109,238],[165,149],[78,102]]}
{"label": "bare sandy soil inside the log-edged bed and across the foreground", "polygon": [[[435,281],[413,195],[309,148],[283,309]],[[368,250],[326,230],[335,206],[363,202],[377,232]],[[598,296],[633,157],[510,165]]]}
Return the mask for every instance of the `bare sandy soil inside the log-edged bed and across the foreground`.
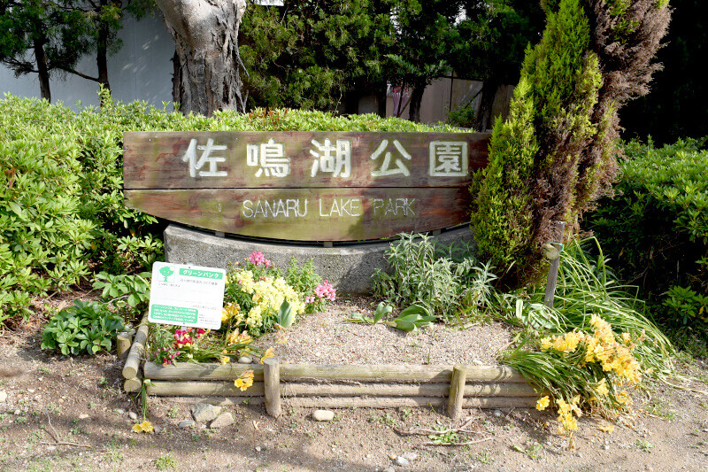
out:
{"label": "bare sandy soil inside the log-edged bed and across the foreground", "polygon": [[[358,363],[489,363],[508,343],[502,325],[403,334],[343,323],[354,309],[370,310],[368,302],[344,300],[304,320],[277,355],[321,363],[336,352]],[[147,417],[158,432],[145,434],[132,429],[142,410],[121,389],[122,361],[45,352],[41,334],[36,321],[0,336],[0,470],[708,470],[703,360],[680,363],[681,373],[700,379],[681,383],[691,390],[653,383],[635,394],[634,415],[612,425],[582,417],[573,448],[558,435],[554,414],[533,409],[466,410],[457,422],[429,407],[338,409],[333,421],[316,422],[309,408],[286,403],[273,419],[264,406],[244,404],[226,408],[233,425],[208,429],[180,428],[192,419],[188,404],[148,398]],[[444,438],[436,429],[456,429],[447,438],[466,445],[435,444]]]}

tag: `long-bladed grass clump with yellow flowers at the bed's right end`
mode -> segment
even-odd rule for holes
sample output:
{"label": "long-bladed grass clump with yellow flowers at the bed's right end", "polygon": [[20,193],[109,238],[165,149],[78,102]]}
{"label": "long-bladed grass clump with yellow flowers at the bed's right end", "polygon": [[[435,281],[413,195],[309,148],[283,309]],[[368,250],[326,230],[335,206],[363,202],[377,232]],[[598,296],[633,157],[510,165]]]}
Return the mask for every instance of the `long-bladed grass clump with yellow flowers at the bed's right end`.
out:
{"label": "long-bladed grass clump with yellow flowers at the bed's right end", "polygon": [[[590,244],[598,256],[589,255]],[[643,375],[672,374],[672,344],[627,290],[590,238],[561,253],[553,308],[543,306],[543,290],[504,298],[507,321],[527,330],[502,361],[543,395],[539,409],[553,402],[562,432],[571,436],[583,409],[607,417],[627,411],[627,387],[638,387]]]}

